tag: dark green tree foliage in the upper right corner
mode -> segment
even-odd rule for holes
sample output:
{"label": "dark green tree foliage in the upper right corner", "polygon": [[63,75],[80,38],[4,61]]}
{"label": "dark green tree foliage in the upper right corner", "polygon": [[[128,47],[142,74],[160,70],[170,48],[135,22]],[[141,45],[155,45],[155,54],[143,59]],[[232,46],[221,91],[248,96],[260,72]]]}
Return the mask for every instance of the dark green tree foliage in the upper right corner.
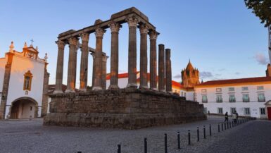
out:
{"label": "dark green tree foliage in the upper right corner", "polygon": [[[265,24],[265,27],[271,25],[271,0],[244,0],[246,7],[252,9],[260,18],[260,23]],[[271,27],[271,26],[270,26]]]}

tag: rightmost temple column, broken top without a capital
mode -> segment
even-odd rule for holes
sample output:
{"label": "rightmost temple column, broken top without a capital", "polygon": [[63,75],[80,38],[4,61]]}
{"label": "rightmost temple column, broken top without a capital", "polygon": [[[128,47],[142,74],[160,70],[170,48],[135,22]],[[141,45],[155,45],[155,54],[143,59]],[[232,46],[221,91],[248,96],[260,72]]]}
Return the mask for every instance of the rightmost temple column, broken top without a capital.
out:
{"label": "rightmost temple column, broken top without a capital", "polygon": [[165,91],[172,93],[170,49],[165,49]]}

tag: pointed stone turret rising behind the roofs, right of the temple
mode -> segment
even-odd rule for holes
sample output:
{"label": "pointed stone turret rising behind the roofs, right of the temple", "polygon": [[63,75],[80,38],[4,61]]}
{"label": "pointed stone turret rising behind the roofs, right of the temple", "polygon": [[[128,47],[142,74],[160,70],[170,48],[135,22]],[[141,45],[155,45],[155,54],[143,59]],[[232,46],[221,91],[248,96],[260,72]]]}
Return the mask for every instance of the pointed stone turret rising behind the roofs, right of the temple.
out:
{"label": "pointed stone turret rising behind the roofs, right of the temple", "polygon": [[182,85],[184,85],[184,87],[194,87],[199,83],[199,71],[192,66],[189,60],[187,68],[182,70]]}

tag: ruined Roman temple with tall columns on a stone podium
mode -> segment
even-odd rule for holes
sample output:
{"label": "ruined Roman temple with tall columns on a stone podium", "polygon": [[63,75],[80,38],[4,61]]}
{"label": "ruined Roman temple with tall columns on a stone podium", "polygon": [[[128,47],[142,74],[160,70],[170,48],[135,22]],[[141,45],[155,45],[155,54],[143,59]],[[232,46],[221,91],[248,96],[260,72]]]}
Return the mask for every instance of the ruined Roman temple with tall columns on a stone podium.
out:
{"label": "ruined Roman temple with tall columns on a stone podium", "polygon": [[[129,26],[128,82],[118,87],[119,30]],[[111,80],[106,90],[106,61],[103,53],[103,35],[111,30]],[[137,28],[140,31],[140,85],[137,87]],[[124,30],[124,29],[122,29]],[[96,35],[96,48],[89,49],[89,34]],[[147,37],[150,39],[148,85]],[[86,126],[105,128],[146,128],[206,119],[203,105],[172,94],[170,49],[158,45],[158,75],[156,51],[159,32],[149,18],[137,8],[128,8],[109,20],[96,20],[94,25],[81,30],[68,30],[58,35],[56,90],[50,95],[49,114],[44,125]],[[81,38],[82,43],[79,42]],[[67,89],[63,92],[64,47],[68,44]],[[75,90],[77,49],[81,48],[80,89]],[[87,90],[88,54],[94,57],[92,90]],[[158,87],[157,87],[158,86]]]}

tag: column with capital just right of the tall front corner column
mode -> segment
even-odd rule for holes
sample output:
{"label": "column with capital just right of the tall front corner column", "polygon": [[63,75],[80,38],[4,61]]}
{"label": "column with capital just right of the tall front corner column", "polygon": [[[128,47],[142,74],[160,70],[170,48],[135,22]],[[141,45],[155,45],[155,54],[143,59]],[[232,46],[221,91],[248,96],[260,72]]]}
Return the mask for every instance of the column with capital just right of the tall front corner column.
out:
{"label": "column with capital just right of the tall front corner column", "polygon": [[148,56],[147,56],[147,34],[149,27],[145,24],[139,25],[140,31],[140,86],[141,89],[148,88]]}

